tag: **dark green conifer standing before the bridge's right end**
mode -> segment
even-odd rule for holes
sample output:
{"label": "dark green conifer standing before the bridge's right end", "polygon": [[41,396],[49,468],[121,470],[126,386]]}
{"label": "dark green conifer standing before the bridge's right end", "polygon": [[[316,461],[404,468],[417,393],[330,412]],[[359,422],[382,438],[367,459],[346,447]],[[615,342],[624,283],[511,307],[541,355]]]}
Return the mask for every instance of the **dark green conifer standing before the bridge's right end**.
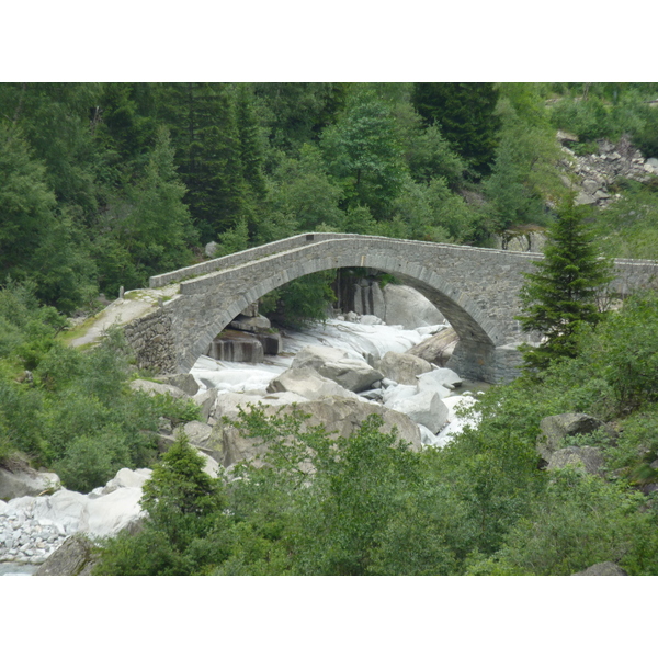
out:
{"label": "dark green conifer standing before the bridge's right end", "polygon": [[524,331],[537,331],[544,341],[523,348],[525,367],[544,370],[553,361],[577,355],[576,332],[597,325],[601,286],[612,280],[611,263],[599,257],[582,224],[582,213],[569,202],[548,230],[545,259],[526,273],[520,297],[524,314],[517,317]]}

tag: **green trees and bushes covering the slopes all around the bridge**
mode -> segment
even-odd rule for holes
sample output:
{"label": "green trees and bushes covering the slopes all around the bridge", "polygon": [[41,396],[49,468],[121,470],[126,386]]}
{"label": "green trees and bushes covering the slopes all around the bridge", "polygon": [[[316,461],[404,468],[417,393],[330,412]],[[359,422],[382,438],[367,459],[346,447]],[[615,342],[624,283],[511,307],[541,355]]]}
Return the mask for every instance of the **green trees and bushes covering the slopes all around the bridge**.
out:
{"label": "green trees and bushes covering the slopes all around the bridge", "polygon": [[[61,338],[67,318],[211,241],[216,256],[313,230],[490,246],[555,226],[572,195],[556,132],[577,152],[625,136],[658,157],[657,98],[658,83],[0,84],[0,461],[23,455],[79,491],[156,465],[150,520],[107,545],[103,572],[656,574],[651,293],[577,328],[568,358],[492,387],[478,428],[443,450],[410,453],[374,421],[333,446],[254,410],[245,431],[275,458],[231,483],[204,477],[184,441],[157,466],[161,418],[196,410],[131,390],[121,334],[88,351]],[[621,198],[581,213],[594,249],[658,259],[658,185],[616,185]],[[332,276],[268,306],[321,317]],[[608,423],[569,438],[600,450],[599,475],[540,458],[541,419],[571,411]],[[308,454],[313,476],[296,466]]]}

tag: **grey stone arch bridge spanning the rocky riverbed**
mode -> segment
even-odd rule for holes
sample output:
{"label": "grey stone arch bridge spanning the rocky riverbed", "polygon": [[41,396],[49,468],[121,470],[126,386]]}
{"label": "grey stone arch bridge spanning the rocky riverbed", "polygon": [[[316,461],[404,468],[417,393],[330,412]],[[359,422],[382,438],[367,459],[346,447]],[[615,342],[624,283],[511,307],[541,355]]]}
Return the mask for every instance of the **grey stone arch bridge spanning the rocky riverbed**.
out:
{"label": "grey stone arch bridge spanning the rocky riverbed", "polygon": [[[467,378],[507,382],[518,374],[517,347],[530,338],[514,320],[523,272],[542,258],[374,236],[305,234],[152,276],[150,288],[171,295],[125,325],[125,334],[141,367],[189,372],[217,333],[270,291],[321,270],[371,268],[394,274],[443,313],[460,337],[450,367]],[[653,286],[658,262],[617,260],[611,287],[624,296]]]}

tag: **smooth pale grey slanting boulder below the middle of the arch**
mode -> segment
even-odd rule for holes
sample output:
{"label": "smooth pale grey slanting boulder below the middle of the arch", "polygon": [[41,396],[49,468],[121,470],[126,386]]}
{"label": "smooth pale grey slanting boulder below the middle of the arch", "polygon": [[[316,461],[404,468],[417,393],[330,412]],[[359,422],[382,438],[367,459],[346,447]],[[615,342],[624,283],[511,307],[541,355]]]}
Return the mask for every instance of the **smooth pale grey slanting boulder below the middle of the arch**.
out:
{"label": "smooth pale grey slanting boulder below the middle of the arch", "polygon": [[306,347],[297,352],[291,367],[310,367],[322,377],[354,393],[367,390],[375,382],[382,379],[382,373],[365,361],[352,359],[337,348]]}

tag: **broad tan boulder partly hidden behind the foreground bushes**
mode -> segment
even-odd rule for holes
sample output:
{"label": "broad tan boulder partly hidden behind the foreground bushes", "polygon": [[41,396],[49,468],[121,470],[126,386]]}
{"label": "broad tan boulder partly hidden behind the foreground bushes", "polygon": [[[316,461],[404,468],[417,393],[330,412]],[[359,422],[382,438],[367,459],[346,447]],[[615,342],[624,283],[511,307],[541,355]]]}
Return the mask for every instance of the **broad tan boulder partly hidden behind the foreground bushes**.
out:
{"label": "broad tan boulder partly hidden behind the foreground bushes", "polygon": [[[368,416],[376,413],[384,420],[383,431],[390,432],[395,427],[400,441],[409,443],[413,450],[421,447],[420,430],[407,416],[381,405],[367,402],[358,396],[354,398],[325,397],[297,402],[294,407],[303,415],[309,416],[302,423],[302,431],[321,424],[327,431],[336,432],[339,436],[349,436],[363,424]],[[293,411],[293,407],[266,407],[265,415],[273,416],[279,410],[282,413],[290,413]],[[235,427],[227,423],[217,423],[213,432],[222,433],[223,465],[225,467],[243,460],[253,460],[257,465],[262,465],[265,450],[261,445],[260,439],[245,436]]]}

